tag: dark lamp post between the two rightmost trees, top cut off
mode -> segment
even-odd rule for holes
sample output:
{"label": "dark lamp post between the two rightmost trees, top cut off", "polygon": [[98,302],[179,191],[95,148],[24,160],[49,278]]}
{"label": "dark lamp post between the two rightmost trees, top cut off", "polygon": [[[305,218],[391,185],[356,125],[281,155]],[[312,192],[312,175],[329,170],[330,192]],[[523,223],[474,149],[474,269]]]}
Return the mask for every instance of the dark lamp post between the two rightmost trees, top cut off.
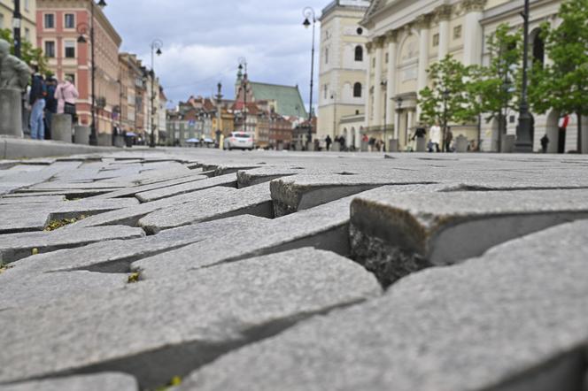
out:
{"label": "dark lamp post between the two rightmost trees, top cut off", "polygon": [[522,49],[522,89],[521,105],[519,109],[519,125],[516,126],[516,152],[532,152],[533,142],[531,133],[533,131],[533,117],[529,112],[529,101],[527,96],[528,68],[529,68],[529,0],[525,0],[524,11],[521,12],[523,23],[523,49]]}

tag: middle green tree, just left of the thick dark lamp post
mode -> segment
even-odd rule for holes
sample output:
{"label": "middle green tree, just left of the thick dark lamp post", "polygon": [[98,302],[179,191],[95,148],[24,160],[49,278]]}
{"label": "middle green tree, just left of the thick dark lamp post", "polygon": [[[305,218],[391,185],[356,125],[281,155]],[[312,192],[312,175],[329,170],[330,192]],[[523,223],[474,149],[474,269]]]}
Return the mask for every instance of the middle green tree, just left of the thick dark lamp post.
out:
{"label": "middle green tree, just left of the thick dark lamp post", "polygon": [[486,122],[499,122],[499,150],[507,133],[509,111],[517,111],[521,95],[522,33],[511,31],[507,24],[499,25],[488,37],[490,64],[476,65],[468,83],[471,110],[484,115]]}

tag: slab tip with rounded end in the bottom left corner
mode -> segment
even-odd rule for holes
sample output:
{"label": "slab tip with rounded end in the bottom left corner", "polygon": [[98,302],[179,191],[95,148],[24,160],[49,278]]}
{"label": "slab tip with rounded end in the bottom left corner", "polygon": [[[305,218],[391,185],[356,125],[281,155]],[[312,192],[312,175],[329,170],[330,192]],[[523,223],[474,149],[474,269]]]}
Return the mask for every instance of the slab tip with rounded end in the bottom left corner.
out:
{"label": "slab tip with rounded end in the bottom left corner", "polygon": [[27,381],[2,387],[3,391],[139,391],[135,378],[124,373],[104,372],[94,375]]}

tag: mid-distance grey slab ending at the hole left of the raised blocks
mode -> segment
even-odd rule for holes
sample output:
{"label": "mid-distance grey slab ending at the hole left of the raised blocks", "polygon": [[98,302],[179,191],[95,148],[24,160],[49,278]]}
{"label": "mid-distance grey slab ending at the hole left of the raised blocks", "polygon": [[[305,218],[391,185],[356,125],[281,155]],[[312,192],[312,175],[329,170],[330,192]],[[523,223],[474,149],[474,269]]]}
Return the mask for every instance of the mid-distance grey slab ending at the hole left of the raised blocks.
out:
{"label": "mid-distance grey slab ending at the hole left of the raised blocks", "polygon": [[156,234],[176,226],[186,226],[213,219],[249,214],[262,218],[274,217],[274,206],[269,184],[235,188],[209,188],[199,191],[190,203],[169,206],[154,211],[139,220],[139,226],[149,234]]}

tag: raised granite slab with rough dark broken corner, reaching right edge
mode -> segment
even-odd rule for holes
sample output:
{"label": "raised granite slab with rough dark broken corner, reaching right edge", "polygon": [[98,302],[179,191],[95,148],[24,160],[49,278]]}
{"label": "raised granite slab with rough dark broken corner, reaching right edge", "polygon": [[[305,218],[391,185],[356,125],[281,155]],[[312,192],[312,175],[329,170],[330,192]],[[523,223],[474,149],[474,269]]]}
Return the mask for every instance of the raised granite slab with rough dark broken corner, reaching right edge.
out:
{"label": "raised granite slab with rough dark broken corner, reaching right edge", "polygon": [[576,219],[588,219],[588,189],[403,195],[380,188],[352,203],[352,257],[387,286]]}

